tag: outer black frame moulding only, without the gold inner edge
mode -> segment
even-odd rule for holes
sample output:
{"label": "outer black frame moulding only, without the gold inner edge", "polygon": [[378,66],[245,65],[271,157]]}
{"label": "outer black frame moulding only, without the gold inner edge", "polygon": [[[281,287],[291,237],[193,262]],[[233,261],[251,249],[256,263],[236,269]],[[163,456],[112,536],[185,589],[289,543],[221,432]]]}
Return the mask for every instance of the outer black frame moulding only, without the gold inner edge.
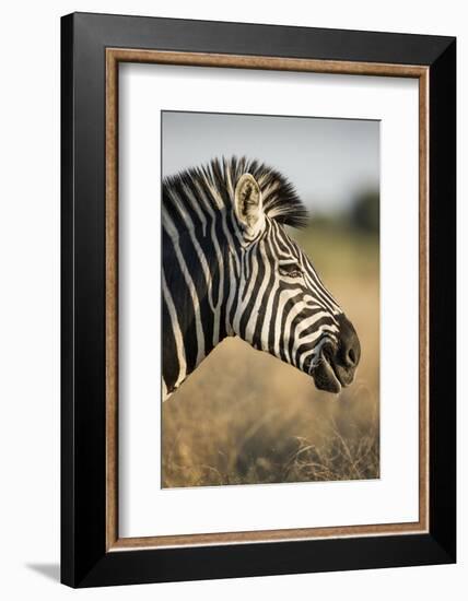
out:
{"label": "outer black frame moulding only, without the gold inner edge", "polygon": [[[106,47],[430,67],[429,533],[106,553]],[[91,587],[454,563],[456,39],[74,13],[61,20],[61,581]]]}

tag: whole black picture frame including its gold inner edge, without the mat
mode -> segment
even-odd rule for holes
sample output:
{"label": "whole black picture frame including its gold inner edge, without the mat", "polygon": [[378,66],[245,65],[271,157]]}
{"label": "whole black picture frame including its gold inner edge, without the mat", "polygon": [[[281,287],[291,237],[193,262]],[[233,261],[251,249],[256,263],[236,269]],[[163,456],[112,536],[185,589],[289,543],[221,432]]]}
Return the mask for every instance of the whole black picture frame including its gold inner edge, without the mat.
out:
{"label": "whole black picture frame including its gold inner edge, without the mat", "polygon": [[[417,522],[208,532],[160,542],[119,538],[117,91],[122,62],[418,80]],[[63,584],[94,587],[456,561],[455,106],[452,37],[90,13],[62,17]]]}

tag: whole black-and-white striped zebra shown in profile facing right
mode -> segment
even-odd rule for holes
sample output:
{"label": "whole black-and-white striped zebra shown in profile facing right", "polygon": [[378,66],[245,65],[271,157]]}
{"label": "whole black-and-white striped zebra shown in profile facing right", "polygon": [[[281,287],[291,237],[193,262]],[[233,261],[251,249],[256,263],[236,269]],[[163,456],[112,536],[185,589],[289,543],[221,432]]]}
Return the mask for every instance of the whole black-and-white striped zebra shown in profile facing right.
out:
{"label": "whole black-and-white striped zebra shown in profile facing right", "polygon": [[353,381],[354,327],[285,227],[307,219],[292,184],[257,160],[214,158],[163,179],[163,400],[233,335],[320,390]]}

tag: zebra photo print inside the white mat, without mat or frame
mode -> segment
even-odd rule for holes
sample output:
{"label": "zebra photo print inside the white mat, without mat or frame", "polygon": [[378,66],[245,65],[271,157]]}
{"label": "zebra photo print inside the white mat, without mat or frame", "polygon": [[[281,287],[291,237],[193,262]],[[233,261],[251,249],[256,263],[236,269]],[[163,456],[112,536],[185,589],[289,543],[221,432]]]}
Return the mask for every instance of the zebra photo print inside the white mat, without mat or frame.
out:
{"label": "zebra photo print inside the white mat, without mat or frame", "polygon": [[378,120],[161,118],[162,487],[378,479]]}

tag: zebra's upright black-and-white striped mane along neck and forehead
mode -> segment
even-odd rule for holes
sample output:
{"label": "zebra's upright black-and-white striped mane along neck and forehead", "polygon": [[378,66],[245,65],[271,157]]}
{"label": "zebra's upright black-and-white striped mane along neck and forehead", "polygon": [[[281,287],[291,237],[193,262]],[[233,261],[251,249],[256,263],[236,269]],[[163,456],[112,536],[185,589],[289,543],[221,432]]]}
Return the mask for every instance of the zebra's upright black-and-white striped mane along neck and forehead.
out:
{"label": "zebra's upright black-and-white striped mane along neck and forehead", "polygon": [[[211,188],[223,198],[232,202],[233,189],[239,177],[249,173],[260,186],[265,213],[279,223],[291,227],[304,227],[307,224],[307,210],[299,198],[292,184],[278,170],[260,163],[257,160],[213,158],[209,164],[192,167],[163,179],[163,188],[175,191],[179,197],[192,202],[192,195],[184,193],[184,188],[201,187],[206,195],[213,199]],[[231,195],[230,195],[231,190]],[[171,195],[164,195],[165,199]],[[214,200],[214,199],[213,199]]]}

